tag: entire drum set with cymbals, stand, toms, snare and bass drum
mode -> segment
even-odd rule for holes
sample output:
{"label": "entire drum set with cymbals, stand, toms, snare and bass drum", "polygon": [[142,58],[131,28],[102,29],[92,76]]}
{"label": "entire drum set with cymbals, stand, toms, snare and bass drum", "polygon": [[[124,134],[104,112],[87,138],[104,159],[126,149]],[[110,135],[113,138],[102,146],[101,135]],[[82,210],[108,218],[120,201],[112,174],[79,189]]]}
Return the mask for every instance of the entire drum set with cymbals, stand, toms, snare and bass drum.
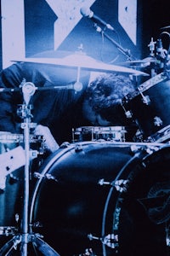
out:
{"label": "entire drum set with cymbals, stand, toms, snare and bass drum", "polygon": [[[81,68],[148,75],[84,55],[74,63],[70,56],[21,61],[76,67],[77,78]],[[148,61],[157,60],[127,62],[139,66]],[[139,127],[134,141],[127,141],[124,126],[77,127],[72,142],[61,144],[45,160],[43,137],[30,132],[35,90],[31,83],[22,88],[23,134],[0,132],[0,255],[169,255],[168,70],[122,98],[127,119]]]}

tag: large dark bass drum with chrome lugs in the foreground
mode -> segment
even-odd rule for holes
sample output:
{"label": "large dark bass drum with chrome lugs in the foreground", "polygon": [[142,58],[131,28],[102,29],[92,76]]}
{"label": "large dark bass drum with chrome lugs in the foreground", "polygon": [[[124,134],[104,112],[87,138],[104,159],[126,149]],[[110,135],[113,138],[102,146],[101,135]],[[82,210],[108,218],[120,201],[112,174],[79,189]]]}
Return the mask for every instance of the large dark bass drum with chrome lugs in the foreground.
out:
{"label": "large dark bass drum with chrome lugs in the foreground", "polygon": [[59,148],[36,173],[32,231],[61,256],[167,255],[169,165],[166,145]]}

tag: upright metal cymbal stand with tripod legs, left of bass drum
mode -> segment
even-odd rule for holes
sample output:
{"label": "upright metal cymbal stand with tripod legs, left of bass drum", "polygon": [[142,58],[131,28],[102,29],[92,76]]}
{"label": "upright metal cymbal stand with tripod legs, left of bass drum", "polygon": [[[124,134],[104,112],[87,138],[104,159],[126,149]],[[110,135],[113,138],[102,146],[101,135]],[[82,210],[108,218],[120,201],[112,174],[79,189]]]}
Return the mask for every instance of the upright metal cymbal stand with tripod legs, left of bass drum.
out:
{"label": "upright metal cymbal stand with tripod legs, left of bass drum", "polygon": [[[24,144],[26,152],[26,165],[25,165],[25,177],[24,177],[24,201],[23,201],[23,216],[21,221],[21,234],[14,235],[14,237],[8,241],[1,249],[1,256],[16,255],[19,252],[21,256],[28,255],[28,243],[31,242],[35,250],[39,251],[41,255],[47,256],[59,256],[52,247],[50,247],[45,241],[42,241],[40,234],[31,233],[29,230],[29,182],[30,182],[30,128],[31,123],[31,105],[29,105],[31,96],[35,93],[35,85],[32,83],[25,83],[22,86],[23,97],[26,104],[22,105],[22,119],[24,123],[21,124],[21,128],[24,129]],[[18,248],[20,244],[20,247]],[[18,255],[18,253],[17,253]],[[36,255],[38,255],[36,253]]]}

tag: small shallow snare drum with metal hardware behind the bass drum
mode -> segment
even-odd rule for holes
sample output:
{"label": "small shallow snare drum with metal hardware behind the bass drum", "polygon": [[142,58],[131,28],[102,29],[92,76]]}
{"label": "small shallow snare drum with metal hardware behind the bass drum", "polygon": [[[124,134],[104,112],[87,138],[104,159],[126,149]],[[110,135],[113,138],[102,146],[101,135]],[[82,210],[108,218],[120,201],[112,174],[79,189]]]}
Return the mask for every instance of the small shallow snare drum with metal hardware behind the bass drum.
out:
{"label": "small shallow snare drum with metal hardware behind the bass drum", "polygon": [[126,133],[124,126],[82,126],[72,130],[72,143],[98,140],[125,142]]}

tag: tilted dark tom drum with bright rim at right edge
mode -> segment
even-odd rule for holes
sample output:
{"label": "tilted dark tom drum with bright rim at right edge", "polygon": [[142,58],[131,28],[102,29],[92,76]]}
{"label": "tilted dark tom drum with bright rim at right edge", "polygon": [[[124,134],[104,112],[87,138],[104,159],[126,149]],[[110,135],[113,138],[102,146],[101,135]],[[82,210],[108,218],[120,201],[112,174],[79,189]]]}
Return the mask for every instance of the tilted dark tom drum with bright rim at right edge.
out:
{"label": "tilted dark tom drum with bright rim at right edge", "polygon": [[132,94],[125,96],[122,99],[122,108],[127,118],[135,120],[144,141],[163,142],[163,137],[167,137],[170,130],[169,102],[170,80],[160,73],[140,84]]}

